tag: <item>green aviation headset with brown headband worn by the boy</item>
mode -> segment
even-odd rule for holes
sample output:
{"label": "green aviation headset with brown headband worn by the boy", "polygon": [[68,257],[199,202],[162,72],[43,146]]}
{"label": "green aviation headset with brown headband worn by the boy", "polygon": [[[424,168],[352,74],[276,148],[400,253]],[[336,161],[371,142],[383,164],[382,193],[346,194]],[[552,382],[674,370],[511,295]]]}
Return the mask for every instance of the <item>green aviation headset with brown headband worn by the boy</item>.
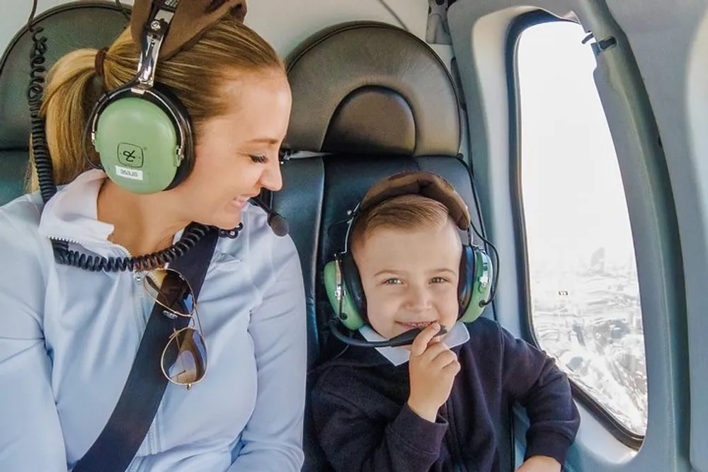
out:
{"label": "green aviation headset with brown headband worn by the boy", "polygon": [[[493,299],[492,289],[496,286],[496,283],[492,283],[493,267],[491,258],[484,251],[484,248],[472,244],[470,227],[474,226],[472,226],[467,205],[464,204],[462,197],[452,188],[450,183],[433,173],[424,171],[399,173],[382,180],[367,192],[362,202],[354,210],[353,218],[349,222],[345,251],[337,253],[335,260],[327,263],[324,267],[324,284],[327,297],[338,321],[341,321],[350,330],[358,330],[367,323],[364,290],[359,271],[350,251],[351,231],[358,217],[368,209],[375,207],[375,205],[384,200],[407,194],[423,195],[442,203],[442,205],[447,207],[450,217],[455,221],[457,227],[462,231],[467,231],[467,243],[462,245],[462,258],[459,263],[459,282],[457,286],[458,320],[464,323],[472,323],[472,321],[479,318],[484,311],[484,307],[490,304]],[[331,327],[333,330],[335,329],[332,323]],[[341,333],[335,331],[335,334]],[[411,334],[412,336],[407,336],[407,338],[411,338],[410,341],[417,333]],[[341,339],[339,335],[337,338]],[[345,340],[345,342],[347,341]],[[405,343],[396,345],[401,344]]]}

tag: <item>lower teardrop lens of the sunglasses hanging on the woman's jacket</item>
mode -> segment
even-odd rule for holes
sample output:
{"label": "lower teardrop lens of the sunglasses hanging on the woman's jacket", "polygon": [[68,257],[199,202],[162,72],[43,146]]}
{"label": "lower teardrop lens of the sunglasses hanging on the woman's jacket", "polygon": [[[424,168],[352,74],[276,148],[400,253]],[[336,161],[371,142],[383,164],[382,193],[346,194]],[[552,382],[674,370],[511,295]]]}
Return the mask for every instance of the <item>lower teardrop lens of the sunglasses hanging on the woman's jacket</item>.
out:
{"label": "lower teardrop lens of the sunglasses hanging on the woman's jacket", "polygon": [[184,328],[172,336],[162,355],[162,372],[175,384],[195,384],[207,369],[207,348],[201,333]]}

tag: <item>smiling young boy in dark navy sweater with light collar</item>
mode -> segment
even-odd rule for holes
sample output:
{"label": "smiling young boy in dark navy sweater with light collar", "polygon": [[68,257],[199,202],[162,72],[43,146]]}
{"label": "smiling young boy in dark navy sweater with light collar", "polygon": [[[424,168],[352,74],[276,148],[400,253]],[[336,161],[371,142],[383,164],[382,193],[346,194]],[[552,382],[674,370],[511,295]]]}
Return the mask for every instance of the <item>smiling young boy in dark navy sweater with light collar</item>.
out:
{"label": "smiling young boy in dark navy sweater with light collar", "polygon": [[[579,425],[569,382],[494,321],[457,323],[457,229],[469,214],[444,180],[416,176],[437,183],[440,197],[421,195],[411,174],[400,188],[397,176],[375,185],[349,249],[366,301],[360,334],[382,340],[425,329],[407,348],[349,347],[322,368],[312,391],[321,447],[337,472],[496,472],[498,442],[508,440],[498,437],[503,412],[518,401],[530,419],[518,471],[559,472]],[[403,195],[378,202],[383,192]]]}

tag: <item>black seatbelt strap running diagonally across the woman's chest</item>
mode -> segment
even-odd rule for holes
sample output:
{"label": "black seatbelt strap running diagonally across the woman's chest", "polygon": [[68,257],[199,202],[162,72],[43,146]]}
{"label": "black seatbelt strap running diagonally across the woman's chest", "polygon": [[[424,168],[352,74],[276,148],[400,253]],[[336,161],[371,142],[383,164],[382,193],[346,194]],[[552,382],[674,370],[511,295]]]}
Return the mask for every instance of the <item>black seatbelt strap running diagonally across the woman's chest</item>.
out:
{"label": "black seatbelt strap running diagonally across the woman's chest", "polygon": [[[170,264],[189,281],[195,299],[199,297],[218,238],[217,231],[209,231],[190,251]],[[135,457],[168,383],[161,369],[162,352],[173,329],[184,328],[190,320],[186,316],[172,320],[164,316],[163,310],[154,304],[118,403],[103,431],[72,472],[125,472]],[[176,356],[176,350],[173,351]]]}

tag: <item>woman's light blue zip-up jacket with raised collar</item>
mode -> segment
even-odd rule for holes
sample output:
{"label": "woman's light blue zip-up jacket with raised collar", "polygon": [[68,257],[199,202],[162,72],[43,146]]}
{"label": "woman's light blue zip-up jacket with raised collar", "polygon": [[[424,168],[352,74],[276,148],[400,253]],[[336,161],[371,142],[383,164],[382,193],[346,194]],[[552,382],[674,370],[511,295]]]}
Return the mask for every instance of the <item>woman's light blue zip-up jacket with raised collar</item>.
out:
{"label": "woman's light blue zip-up jacket with raised collar", "polygon": [[[0,470],[67,472],[115,407],[152,300],[136,272],[57,265],[48,236],[103,256],[101,171],[0,207]],[[205,379],[168,384],[128,471],[299,471],[307,333],[297,251],[247,206],[220,238],[198,299]],[[177,237],[177,236],[176,236]]]}

